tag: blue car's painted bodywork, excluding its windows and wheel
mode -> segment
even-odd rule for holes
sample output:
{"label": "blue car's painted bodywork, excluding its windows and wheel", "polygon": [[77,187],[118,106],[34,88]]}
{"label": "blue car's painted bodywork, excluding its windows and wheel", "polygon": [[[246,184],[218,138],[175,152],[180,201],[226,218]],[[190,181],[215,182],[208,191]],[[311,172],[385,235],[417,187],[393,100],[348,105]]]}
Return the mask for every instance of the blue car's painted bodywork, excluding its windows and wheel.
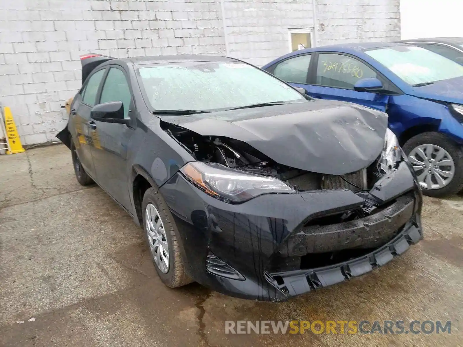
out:
{"label": "blue car's painted bodywork, excluding its windows and wheel", "polygon": [[[394,44],[397,45],[400,43],[354,43],[351,45],[335,45],[301,50],[282,56],[265,65],[263,69],[272,71],[272,68],[278,62],[286,60],[289,57],[307,53],[317,55],[322,52],[337,52],[355,56],[362,62],[373,67],[379,74],[386,77],[388,81],[403,92],[396,95],[384,95],[387,99],[380,98],[381,101],[379,101],[379,106],[381,106],[382,102],[387,102],[385,106],[387,107],[386,112],[389,115],[389,127],[397,136],[401,136],[406,130],[412,127],[429,126],[435,127],[439,132],[449,136],[455,142],[463,144],[463,125],[449,111],[450,103],[463,104],[463,78],[440,81],[424,87],[412,87],[364,51]],[[316,59],[312,59],[311,64],[315,64],[316,61]],[[314,70],[314,67],[309,68],[312,75],[314,74]],[[310,81],[310,77],[308,80]],[[361,105],[378,108],[378,103],[375,104],[370,101],[375,100],[377,95],[375,93],[356,92],[313,84],[297,86],[304,87],[309,91],[309,95],[314,97],[348,100]],[[365,97],[365,94],[370,94],[370,96]]]}

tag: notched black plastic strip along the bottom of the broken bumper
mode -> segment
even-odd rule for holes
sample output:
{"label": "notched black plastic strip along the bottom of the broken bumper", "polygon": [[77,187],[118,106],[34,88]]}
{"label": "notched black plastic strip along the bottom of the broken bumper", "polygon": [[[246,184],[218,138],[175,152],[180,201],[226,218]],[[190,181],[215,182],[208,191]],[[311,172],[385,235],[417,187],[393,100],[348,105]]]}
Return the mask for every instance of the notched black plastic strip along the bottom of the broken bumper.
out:
{"label": "notched black plastic strip along the bottom of the broken bumper", "polygon": [[393,240],[362,259],[345,261],[343,263],[312,270],[299,270],[287,273],[271,273],[267,279],[273,279],[272,284],[280,288],[288,297],[293,297],[308,291],[327,287],[361,276],[375,267],[382,266],[395,256],[404,253],[411,244],[422,239],[418,223],[408,223],[402,232]]}

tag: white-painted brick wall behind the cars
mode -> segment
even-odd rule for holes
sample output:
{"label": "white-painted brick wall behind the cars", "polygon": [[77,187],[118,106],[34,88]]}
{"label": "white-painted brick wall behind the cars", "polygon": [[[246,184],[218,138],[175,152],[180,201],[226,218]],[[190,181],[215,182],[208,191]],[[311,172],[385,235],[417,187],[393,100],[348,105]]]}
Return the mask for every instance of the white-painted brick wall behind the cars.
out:
{"label": "white-painted brick wall behind the cars", "polygon": [[[398,0],[317,2],[319,44],[400,37]],[[312,11],[312,0],[0,0],[0,102],[23,144],[53,141],[79,56],[228,51],[262,66],[288,52],[288,29],[313,27]]]}

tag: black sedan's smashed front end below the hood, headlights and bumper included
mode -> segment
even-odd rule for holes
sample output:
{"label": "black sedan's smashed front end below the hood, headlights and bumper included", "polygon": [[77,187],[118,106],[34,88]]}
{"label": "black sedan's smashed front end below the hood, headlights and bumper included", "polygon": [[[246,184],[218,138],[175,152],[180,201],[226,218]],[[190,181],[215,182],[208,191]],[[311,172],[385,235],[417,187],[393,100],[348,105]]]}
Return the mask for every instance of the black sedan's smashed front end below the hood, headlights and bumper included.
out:
{"label": "black sedan's smashed front end below the hood, headlights and bumper included", "polygon": [[[421,192],[390,130],[373,161],[337,174],[282,165],[231,137],[161,127],[197,160],[160,192],[176,223],[196,230],[182,241],[204,268],[190,273],[217,291],[286,300],[367,273],[422,238]],[[238,184],[248,176],[257,183]]]}

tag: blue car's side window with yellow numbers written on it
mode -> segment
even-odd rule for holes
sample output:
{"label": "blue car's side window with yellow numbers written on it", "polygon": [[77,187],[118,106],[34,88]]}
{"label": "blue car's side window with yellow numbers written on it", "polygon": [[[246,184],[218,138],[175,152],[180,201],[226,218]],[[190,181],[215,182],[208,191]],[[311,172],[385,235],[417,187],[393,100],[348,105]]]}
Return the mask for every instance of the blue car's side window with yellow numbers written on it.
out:
{"label": "blue car's side window with yellow numbers written on it", "polygon": [[320,54],[316,84],[325,87],[354,89],[357,81],[377,77],[374,70],[363,62],[343,54]]}

